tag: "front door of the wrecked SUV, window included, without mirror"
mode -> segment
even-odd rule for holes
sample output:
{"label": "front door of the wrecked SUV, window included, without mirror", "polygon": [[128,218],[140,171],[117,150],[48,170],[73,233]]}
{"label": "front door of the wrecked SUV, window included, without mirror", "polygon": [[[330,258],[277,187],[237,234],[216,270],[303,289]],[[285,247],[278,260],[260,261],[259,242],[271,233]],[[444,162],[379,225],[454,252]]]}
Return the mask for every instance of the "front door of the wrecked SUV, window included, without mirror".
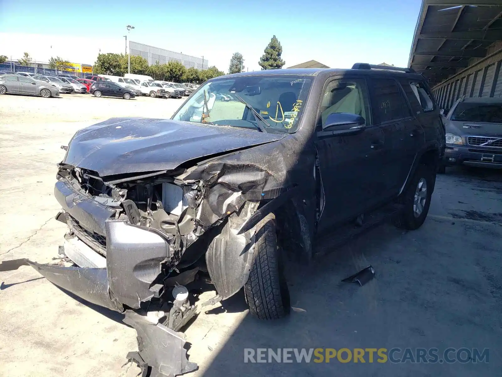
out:
{"label": "front door of the wrecked SUV, window included, without mirror", "polygon": [[[351,113],[365,119],[363,131],[349,135],[324,132],[332,113]],[[373,126],[369,93],[364,76],[344,75],[324,85],[316,127],[317,164],[320,173],[318,232],[364,214],[374,196],[382,195],[385,135]]]}

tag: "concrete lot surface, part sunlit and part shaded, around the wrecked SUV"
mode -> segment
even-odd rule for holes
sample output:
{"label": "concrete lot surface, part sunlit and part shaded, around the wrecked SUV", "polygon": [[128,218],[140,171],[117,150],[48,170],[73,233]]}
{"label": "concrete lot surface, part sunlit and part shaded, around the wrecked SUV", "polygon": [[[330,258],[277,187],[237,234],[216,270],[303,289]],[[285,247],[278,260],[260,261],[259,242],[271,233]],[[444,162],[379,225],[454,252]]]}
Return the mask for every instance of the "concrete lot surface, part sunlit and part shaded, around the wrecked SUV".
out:
{"label": "concrete lot surface, part sunlit and part shaded, around the wrecked SUV", "polygon": [[[0,97],[0,260],[57,254],[55,164],[73,133],[115,116],[169,117],[182,100]],[[242,296],[205,307],[186,330],[193,376],[495,376],[502,372],[502,173],[451,168],[438,176],[425,224],[383,225],[311,265],[289,263],[295,309],[250,317]],[[363,287],[340,280],[371,264]],[[201,300],[212,297],[205,292]],[[0,375],[126,376],[136,332],[122,316],[68,296],[28,266],[0,272]],[[244,363],[244,348],[447,347],[489,363]],[[402,356],[396,353],[395,356]],[[453,355],[453,354],[452,354]],[[345,356],[344,356],[345,357]],[[293,356],[293,359],[295,357]]]}

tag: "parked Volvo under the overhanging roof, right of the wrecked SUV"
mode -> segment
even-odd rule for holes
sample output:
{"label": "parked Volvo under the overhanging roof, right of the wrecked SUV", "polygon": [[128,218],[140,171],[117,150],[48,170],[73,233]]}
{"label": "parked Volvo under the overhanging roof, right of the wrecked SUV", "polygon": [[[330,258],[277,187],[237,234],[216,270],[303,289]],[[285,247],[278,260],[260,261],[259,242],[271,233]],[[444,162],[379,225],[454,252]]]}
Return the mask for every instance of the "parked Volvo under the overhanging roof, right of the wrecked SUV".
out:
{"label": "parked Volvo under the overhanging roof, right of the wrecked SUV", "polygon": [[453,165],[502,169],[502,98],[462,97],[443,121],[446,151],[439,172]]}

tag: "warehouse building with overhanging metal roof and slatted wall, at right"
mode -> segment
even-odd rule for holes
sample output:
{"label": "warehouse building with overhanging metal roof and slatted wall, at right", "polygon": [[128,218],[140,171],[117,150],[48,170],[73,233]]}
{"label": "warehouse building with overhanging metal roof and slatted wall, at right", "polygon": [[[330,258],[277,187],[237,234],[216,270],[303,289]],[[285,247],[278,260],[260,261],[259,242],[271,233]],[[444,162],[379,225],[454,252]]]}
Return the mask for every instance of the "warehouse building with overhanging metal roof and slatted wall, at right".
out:
{"label": "warehouse building with overhanging metal roof and slatted wall, at right", "polygon": [[502,97],[502,0],[423,0],[408,66],[441,108],[461,97]]}

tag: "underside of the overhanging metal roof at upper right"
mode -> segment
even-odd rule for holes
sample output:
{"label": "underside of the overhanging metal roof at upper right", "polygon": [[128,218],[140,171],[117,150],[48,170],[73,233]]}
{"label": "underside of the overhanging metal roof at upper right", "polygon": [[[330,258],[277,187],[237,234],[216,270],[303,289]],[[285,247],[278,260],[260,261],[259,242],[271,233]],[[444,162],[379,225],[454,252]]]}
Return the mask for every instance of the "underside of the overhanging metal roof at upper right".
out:
{"label": "underside of the overhanging metal roof at upper right", "polygon": [[408,66],[431,85],[488,55],[502,40],[502,0],[423,0]]}

